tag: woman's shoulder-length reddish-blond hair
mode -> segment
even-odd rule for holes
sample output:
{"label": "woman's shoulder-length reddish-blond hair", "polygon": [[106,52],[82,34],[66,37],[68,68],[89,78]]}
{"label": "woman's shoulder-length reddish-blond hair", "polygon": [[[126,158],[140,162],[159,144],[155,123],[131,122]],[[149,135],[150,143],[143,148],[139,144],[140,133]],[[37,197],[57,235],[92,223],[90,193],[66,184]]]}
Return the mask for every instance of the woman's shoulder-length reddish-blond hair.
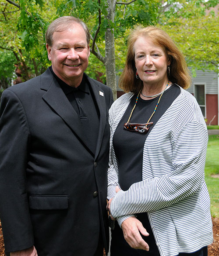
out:
{"label": "woman's shoulder-length reddish-blond hair", "polygon": [[142,80],[137,79],[135,76],[134,43],[138,37],[147,37],[154,44],[158,44],[163,48],[167,59],[171,60],[170,75],[167,72],[168,79],[182,88],[187,89],[191,84],[191,77],[183,54],[165,31],[154,26],[148,26],[146,28],[137,26],[129,35],[125,67],[119,80],[120,88],[125,92],[131,91],[137,93],[143,87]]}

